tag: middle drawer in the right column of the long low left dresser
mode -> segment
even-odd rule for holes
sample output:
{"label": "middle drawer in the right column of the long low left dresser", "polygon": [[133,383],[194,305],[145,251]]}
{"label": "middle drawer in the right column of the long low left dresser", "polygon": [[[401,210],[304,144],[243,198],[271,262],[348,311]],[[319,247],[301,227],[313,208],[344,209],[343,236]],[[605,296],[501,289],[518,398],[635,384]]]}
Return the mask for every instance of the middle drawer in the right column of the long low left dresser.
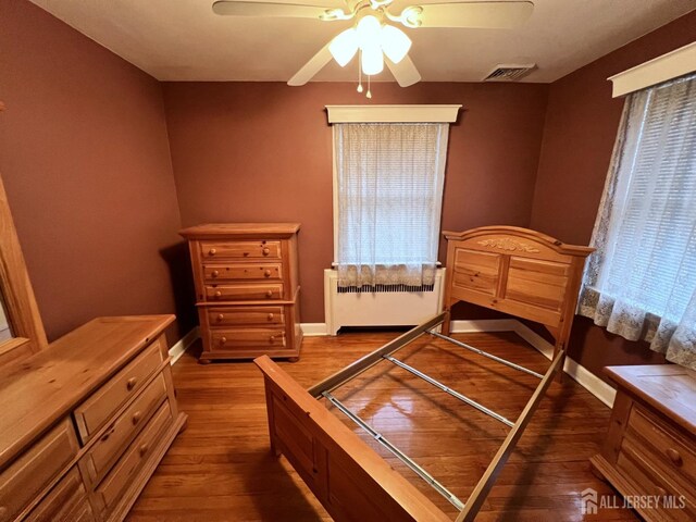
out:
{"label": "middle drawer in the right column of the long low left dresser", "polygon": [[80,461],[86,467],[92,484],[99,482],[99,477],[108,471],[109,465],[119,458],[123,448],[165,398],[166,385],[164,376],[160,374],[99,437]]}

